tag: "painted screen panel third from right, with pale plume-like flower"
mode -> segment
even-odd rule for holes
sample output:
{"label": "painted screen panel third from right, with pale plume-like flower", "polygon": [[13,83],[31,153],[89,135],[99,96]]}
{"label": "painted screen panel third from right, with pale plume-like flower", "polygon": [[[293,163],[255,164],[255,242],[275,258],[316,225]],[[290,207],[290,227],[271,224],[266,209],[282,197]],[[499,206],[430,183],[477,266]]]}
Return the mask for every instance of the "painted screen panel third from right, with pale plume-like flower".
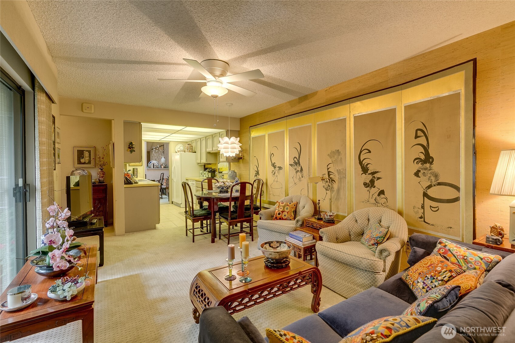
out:
{"label": "painted screen panel third from right, with pale plume-like flower", "polygon": [[320,210],[329,211],[332,191],[332,210],[347,214],[347,118],[317,123],[317,176],[327,177],[317,184]]}

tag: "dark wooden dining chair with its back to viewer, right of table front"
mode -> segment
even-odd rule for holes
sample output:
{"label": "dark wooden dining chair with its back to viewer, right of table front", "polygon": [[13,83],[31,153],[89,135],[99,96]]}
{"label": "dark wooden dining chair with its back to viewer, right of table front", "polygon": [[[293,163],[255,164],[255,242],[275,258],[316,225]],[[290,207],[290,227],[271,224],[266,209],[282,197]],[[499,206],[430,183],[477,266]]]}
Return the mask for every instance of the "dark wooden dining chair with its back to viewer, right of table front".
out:
{"label": "dark wooden dining chair with its back to viewer, right of table front", "polygon": [[[239,186],[239,194],[235,194],[233,197],[233,190],[236,186]],[[220,218],[218,223],[218,239],[221,239],[221,236],[227,237],[227,244],[230,244],[231,237],[237,236],[240,233],[246,233],[250,234],[252,241],[254,241],[254,215],[253,212],[245,210],[246,201],[249,201],[249,205],[253,201],[253,192],[252,183],[250,182],[237,182],[231,186],[229,203],[235,201],[237,209],[233,210],[232,207],[229,207],[228,212],[218,213]],[[224,221],[228,226],[227,235],[221,233],[221,221]],[[238,224],[239,231],[231,232],[231,228]],[[245,226],[245,224],[248,224],[248,226]],[[249,229],[249,231],[245,231],[245,229]]]}

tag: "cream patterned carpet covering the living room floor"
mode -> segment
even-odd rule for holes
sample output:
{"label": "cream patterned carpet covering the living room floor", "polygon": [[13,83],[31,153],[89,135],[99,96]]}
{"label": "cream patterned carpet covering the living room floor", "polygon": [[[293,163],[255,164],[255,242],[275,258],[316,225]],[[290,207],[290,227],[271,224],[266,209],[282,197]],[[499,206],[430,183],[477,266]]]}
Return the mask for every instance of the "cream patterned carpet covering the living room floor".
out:
{"label": "cream patterned carpet covering the living room floor", "polygon": [[[105,238],[105,264],[98,269],[95,288],[96,343],[197,341],[190,284],[198,271],[224,264],[227,241],[216,239],[211,244],[210,235],[204,235],[195,237],[192,243],[191,235],[185,236],[181,211],[162,204],[157,230]],[[90,239],[94,241],[80,240]],[[237,241],[237,237],[233,239]],[[250,255],[261,255],[257,232],[254,242],[250,242]],[[303,287],[237,313],[234,318],[248,316],[264,336],[267,327],[282,328],[312,314],[311,299],[311,288]],[[320,310],[344,300],[325,287],[321,299]],[[79,343],[80,321],[16,342]]]}

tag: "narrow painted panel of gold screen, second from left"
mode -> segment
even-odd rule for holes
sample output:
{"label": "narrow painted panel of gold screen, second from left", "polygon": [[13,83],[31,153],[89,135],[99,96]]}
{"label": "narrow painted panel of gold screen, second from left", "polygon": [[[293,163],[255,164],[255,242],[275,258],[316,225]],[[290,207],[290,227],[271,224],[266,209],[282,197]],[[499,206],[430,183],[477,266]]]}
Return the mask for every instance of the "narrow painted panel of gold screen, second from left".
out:
{"label": "narrow painted panel of gold screen, second from left", "polygon": [[284,134],[284,130],[267,134],[267,198],[270,201],[278,201],[285,197]]}

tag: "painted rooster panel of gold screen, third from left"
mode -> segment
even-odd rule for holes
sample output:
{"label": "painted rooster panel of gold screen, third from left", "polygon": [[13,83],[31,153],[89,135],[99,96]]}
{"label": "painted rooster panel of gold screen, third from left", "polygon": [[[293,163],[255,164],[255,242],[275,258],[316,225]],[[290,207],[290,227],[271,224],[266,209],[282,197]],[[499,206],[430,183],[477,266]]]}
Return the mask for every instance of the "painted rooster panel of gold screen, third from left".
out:
{"label": "painted rooster panel of gold screen, third from left", "polygon": [[307,124],[288,129],[288,194],[312,196],[312,125]]}

